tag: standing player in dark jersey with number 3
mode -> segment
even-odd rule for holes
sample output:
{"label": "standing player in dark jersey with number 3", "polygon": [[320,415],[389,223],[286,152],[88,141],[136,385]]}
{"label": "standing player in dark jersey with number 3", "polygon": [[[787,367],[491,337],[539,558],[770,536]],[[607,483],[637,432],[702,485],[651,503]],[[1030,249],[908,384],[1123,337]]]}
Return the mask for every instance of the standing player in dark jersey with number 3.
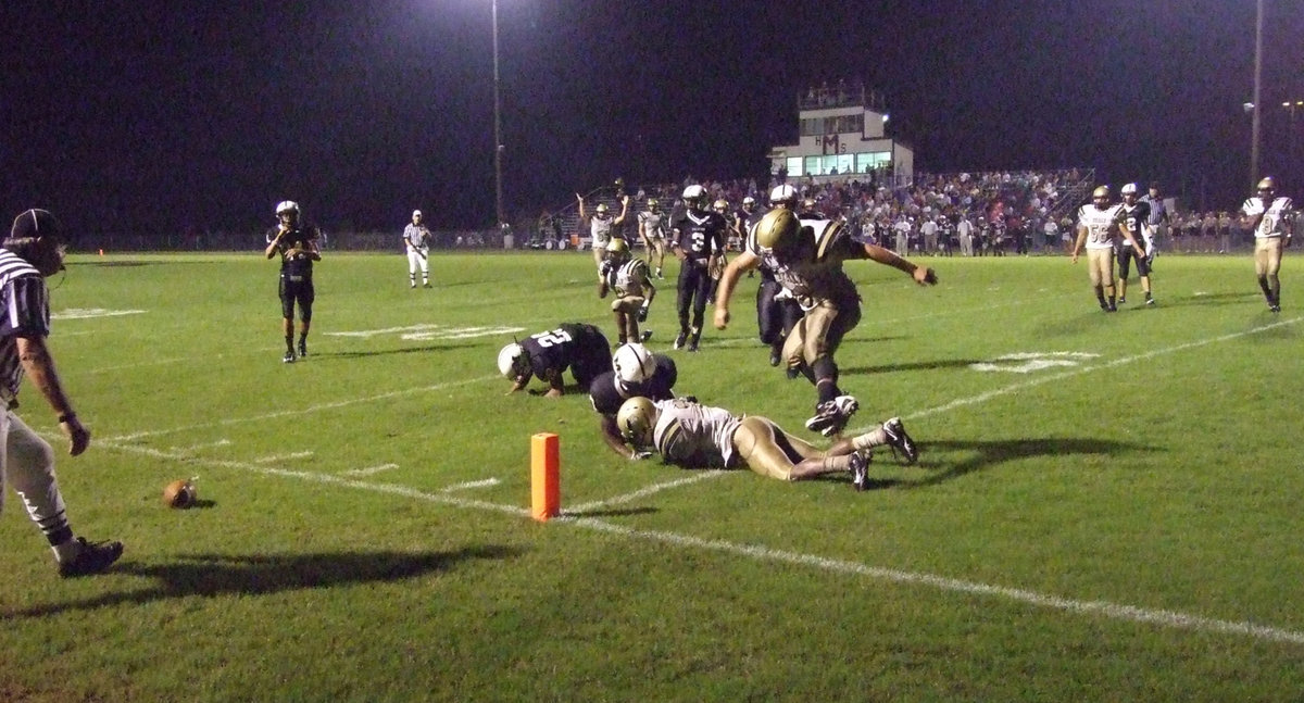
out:
{"label": "standing player in dark jersey with number 3", "polygon": [[[702,342],[702,323],[707,314],[707,299],[711,296],[713,279],[712,266],[724,256],[725,218],[713,213],[708,205],[707,189],[690,185],[683,189],[683,214],[672,223],[670,250],[679,260],[678,313],[679,335],[674,338],[674,348],[698,351]],[[690,326],[689,309],[692,309]]]}

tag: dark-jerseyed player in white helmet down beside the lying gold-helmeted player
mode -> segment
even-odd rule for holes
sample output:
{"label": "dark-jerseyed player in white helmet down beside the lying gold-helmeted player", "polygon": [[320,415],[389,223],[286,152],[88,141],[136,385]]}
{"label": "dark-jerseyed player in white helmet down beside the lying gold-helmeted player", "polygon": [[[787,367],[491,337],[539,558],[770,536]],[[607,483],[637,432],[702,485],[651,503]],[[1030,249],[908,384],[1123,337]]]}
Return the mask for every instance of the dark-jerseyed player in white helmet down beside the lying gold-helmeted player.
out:
{"label": "dark-jerseyed player in white helmet down beside the lying gold-helmeted player", "polygon": [[612,451],[631,460],[647,459],[651,453],[629,447],[615,426],[615,413],[630,398],[644,396],[653,400],[674,398],[674,382],[679,377],[674,361],[664,353],[652,353],[643,344],[625,344],[612,357],[613,369],[593,380],[588,399],[599,413],[602,442]]}

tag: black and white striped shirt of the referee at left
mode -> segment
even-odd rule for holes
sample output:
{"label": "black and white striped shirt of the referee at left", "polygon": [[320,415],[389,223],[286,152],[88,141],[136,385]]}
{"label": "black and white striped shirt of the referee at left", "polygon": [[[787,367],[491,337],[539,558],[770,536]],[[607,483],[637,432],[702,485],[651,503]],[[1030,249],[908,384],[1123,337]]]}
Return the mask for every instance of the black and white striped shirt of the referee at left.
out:
{"label": "black and white striped shirt of the referee at left", "polygon": [[50,297],[46,279],[8,249],[0,249],[0,399],[13,404],[22,385],[20,337],[50,334]]}

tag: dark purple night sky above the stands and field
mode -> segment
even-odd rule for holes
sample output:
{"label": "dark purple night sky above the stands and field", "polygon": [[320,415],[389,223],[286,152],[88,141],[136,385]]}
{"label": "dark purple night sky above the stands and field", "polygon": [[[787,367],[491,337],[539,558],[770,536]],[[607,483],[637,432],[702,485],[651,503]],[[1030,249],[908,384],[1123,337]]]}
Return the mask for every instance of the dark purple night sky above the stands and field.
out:
{"label": "dark purple night sky above the stands and field", "polygon": [[[1265,0],[1261,171],[1304,196],[1304,0]],[[1249,194],[1254,0],[498,0],[503,190],[764,180],[797,97],[861,80],[915,170],[1095,167]],[[0,214],[103,233],[494,222],[489,0],[4,0]]]}

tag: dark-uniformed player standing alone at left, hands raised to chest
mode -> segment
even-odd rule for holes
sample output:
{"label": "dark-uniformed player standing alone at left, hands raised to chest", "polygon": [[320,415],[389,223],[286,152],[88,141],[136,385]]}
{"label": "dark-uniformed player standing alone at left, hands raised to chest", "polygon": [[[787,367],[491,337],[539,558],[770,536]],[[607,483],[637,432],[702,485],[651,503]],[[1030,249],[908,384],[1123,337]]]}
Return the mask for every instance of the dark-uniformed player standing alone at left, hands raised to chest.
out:
{"label": "dark-uniformed player standing alone at left, hands raised to chest", "polygon": [[267,231],[267,258],[280,254],[280,312],[286,333],[286,356],[295,361],[295,304],[299,304],[299,356],[308,356],[308,327],[313,321],[313,262],[321,261],[317,248],[321,233],[299,220],[299,203],[291,200],[276,206],[279,224]]}

